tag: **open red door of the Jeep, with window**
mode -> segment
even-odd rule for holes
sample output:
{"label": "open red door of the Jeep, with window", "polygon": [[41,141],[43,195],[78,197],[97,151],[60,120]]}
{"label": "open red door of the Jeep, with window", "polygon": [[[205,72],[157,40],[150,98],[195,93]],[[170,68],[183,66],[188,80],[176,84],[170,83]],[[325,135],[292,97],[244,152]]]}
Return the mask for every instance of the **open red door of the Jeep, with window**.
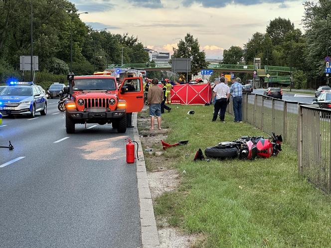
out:
{"label": "open red door of the Jeep, with window", "polygon": [[119,88],[119,99],[127,101],[127,113],[141,112],[144,108],[142,78],[124,78]]}

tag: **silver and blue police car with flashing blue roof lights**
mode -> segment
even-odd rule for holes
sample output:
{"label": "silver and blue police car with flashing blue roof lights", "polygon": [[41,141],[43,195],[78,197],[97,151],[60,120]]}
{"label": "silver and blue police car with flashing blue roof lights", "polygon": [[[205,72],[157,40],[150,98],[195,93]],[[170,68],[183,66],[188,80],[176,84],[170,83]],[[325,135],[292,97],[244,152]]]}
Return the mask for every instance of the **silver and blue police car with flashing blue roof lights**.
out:
{"label": "silver and blue police car with flashing blue roof lights", "polygon": [[10,82],[0,92],[0,113],[4,115],[47,114],[47,98],[33,82]]}

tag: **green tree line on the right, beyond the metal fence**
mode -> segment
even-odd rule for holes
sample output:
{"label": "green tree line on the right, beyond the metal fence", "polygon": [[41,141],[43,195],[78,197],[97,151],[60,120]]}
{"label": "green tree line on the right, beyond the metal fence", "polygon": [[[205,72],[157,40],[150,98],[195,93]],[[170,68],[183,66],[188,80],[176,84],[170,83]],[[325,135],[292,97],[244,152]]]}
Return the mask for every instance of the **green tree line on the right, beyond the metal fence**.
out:
{"label": "green tree line on the right, beyond the metal fence", "polygon": [[331,55],[331,1],[306,1],[302,24],[305,33],[295,28],[290,19],[275,18],[266,27],[265,33],[256,32],[242,47],[231,46],[223,51],[224,64],[244,62],[253,64],[261,58],[262,65],[296,68],[294,77],[297,88],[305,88],[307,79],[326,83],[324,58]]}

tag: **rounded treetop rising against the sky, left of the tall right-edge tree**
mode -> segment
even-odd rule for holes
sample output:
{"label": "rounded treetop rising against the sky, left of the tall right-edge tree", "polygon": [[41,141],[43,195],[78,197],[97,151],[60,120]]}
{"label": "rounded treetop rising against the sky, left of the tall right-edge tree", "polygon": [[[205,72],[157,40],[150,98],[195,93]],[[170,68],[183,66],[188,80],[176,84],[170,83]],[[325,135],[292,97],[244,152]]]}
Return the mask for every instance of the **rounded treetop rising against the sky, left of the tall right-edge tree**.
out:
{"label": "rounded treetop rising against the sky, left of the tall right-edge tree", "polygon": [[284,41],[286,34],[293,30],[294,24],[290,19],[282,17],[271,20],[266,29],[274,46],[281,44]]}

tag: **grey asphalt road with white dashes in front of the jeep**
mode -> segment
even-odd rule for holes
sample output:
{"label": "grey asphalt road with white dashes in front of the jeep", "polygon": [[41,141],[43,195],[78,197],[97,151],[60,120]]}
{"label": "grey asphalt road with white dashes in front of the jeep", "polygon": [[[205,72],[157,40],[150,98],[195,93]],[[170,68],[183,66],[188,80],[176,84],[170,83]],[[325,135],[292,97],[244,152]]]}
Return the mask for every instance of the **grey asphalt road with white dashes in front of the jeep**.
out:
{"label": "grey asphalt road with white dashes in front of the jeep", "polygon": [[68,135],[57,101],[47,116],[0,125],[0,145],[15,147],[0,148],[0,247],[140,247],[132,131],[88,124]]}

